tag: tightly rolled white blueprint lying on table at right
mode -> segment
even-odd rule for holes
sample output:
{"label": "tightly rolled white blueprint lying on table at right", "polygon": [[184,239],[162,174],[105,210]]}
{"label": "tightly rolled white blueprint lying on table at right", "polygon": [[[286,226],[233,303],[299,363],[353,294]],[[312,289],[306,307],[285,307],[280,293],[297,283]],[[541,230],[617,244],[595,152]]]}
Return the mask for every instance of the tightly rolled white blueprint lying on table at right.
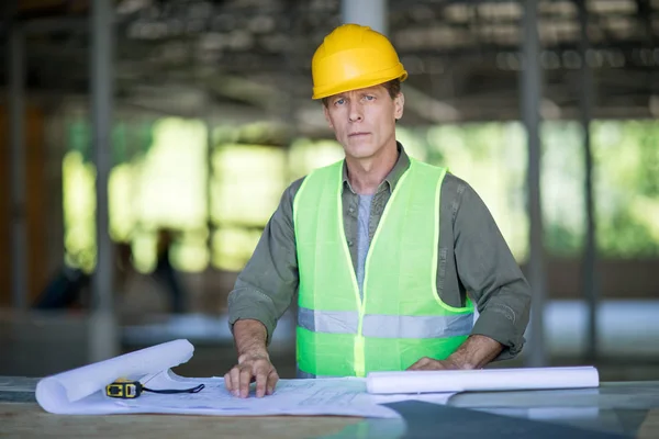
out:
{"label": "tightly rolled white blueprint lying on table at right", "polygon": [[587,389],[599,385],[600,375],[593,367],[370,372],[366,379],[367,391],[373,394]]}

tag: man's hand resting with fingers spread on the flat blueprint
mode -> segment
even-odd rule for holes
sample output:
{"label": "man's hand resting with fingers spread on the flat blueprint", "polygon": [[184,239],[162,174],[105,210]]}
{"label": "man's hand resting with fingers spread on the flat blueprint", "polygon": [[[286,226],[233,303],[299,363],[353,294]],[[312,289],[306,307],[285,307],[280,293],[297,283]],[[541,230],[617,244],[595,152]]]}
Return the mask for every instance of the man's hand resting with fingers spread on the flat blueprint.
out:
{"label": "man's hand resting with fingers spread on the flat blueprint", "polygon": [[245,353],[238,364],[224,375],[224,385],[234,396],[249,396],[249,384],[256,381],[256,397],[271,395],[279,381],[277,370],[265,352]]}

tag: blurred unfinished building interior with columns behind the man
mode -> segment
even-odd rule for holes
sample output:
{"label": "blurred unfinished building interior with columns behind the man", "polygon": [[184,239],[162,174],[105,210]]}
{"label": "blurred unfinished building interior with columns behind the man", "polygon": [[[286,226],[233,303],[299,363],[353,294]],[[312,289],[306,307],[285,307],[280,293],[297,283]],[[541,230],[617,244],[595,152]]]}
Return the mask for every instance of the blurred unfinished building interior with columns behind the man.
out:
{"label": "blurred unfinished building interior with columns behind the man", "polygon": [[[410,74],[398,137],[491,210],[534,289],[523,354],[659,379],[658,0],[7,0],[0,375],[177,338],[235,361],[226,297],[280,195],[342,158],[311,57],[343,22]],[[294,316],[271,346],[294,374]]]}

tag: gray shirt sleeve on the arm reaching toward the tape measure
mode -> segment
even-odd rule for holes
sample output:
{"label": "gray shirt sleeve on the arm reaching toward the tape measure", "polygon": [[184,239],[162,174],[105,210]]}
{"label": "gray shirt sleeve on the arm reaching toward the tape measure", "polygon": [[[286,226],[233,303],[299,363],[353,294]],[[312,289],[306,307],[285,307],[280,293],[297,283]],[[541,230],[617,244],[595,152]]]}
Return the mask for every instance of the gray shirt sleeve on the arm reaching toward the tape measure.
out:
{"label": "gray shirt sleeve on the arm reaching toward the tape measure", "polygon": [[293,229],[293,199],[302,180],[282,194],[268,221],[252,258],[238,274],[228,294],[228,324],[255,319],[267,329],[270,344],[277,322],[290,306],[298,290],[298,256]]}

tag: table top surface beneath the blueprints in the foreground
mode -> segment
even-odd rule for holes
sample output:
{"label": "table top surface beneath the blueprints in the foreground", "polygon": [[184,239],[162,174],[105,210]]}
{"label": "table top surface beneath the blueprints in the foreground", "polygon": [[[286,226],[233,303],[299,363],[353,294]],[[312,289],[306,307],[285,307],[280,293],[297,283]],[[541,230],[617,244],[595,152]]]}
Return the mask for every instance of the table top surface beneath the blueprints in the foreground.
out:
{"label": "table top surface beneath the blueprints in the foreground", "polygon": [[[0,376],[0,437],[258,438],[659,438],[659,381],[602,383],[599,389],[469,392],[446,406],[390,406],[402,419],[332,416],[58,416],[34,397],[38,379]],[[444,435],[442,435],[444,436]]]}

